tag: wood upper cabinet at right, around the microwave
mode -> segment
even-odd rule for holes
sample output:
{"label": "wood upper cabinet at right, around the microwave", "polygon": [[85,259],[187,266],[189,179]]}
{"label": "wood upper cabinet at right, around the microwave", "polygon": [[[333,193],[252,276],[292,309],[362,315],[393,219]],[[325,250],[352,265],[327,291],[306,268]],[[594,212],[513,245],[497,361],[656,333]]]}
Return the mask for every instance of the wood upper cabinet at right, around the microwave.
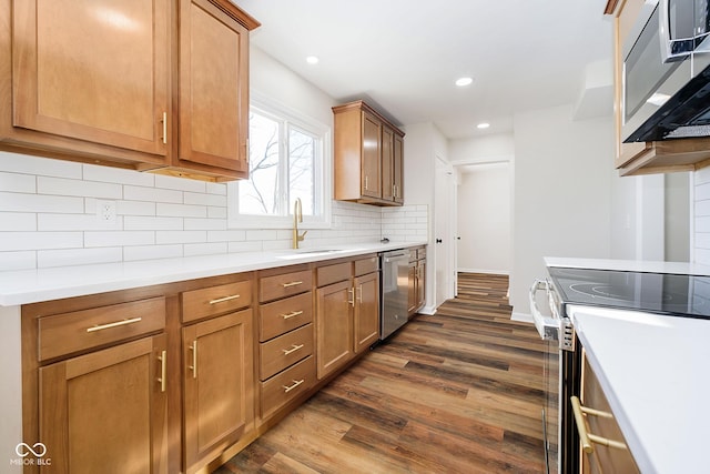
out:
{"label": "wood upper cabinet at right, around the microwave", "polygon": [[616,168],[621,175],[693,171],[710,164],[710,139],[682,139],[656,142],[621,141],[622,48],[643,0],[608,0],[606,14],[613,17],[613,110],[616,132]]}

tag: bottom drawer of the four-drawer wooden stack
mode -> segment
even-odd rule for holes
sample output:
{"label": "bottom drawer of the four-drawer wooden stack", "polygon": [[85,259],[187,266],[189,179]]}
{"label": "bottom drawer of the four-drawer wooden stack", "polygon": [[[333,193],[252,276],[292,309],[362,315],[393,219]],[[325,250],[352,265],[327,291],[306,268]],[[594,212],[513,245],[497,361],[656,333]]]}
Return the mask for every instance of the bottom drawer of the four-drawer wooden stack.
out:
{"label": "bottom drawer of the four-drawer wooden stack", "polygon": [[315,384],[315,357],[310,355],[296,365],[261,382],[262,418],[307,392]]}

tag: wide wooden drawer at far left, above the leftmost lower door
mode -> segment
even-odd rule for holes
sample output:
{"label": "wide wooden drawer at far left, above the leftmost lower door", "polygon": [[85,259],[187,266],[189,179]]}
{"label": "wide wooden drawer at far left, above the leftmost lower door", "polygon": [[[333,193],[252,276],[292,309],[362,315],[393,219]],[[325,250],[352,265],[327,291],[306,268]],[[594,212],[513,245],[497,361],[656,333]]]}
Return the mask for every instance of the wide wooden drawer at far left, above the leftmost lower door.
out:
{"label": "wide wooden drawer at far left, above the leftmost lower door", "polygon": [[39,359],[47,361],[165,327],[165,299],[131,301],[39,319]]}

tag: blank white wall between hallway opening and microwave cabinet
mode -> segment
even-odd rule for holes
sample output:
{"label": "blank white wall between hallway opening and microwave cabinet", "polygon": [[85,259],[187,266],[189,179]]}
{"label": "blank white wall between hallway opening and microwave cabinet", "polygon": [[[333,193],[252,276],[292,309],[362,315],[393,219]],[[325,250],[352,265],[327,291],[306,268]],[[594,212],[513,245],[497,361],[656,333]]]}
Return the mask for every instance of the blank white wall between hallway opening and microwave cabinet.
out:
{"label": "blank white wall between hallway opening and microwave cabinet", "polygon": [[515,115],[510,303],[529,313],[527,292],[544,256],[610,254],[611,117],[574,122],[571,105]]}

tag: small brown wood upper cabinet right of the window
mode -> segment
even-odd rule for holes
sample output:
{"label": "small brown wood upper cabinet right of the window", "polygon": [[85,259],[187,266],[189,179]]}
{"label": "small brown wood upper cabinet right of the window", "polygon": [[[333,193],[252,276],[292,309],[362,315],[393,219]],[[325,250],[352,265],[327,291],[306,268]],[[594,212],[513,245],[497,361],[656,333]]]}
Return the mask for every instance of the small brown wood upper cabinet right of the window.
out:
{"label": "small brown wood upper cabinet right of the window", "polygon": [[404,132],[363,101],[333,108],[335,199],[404,203]]}

